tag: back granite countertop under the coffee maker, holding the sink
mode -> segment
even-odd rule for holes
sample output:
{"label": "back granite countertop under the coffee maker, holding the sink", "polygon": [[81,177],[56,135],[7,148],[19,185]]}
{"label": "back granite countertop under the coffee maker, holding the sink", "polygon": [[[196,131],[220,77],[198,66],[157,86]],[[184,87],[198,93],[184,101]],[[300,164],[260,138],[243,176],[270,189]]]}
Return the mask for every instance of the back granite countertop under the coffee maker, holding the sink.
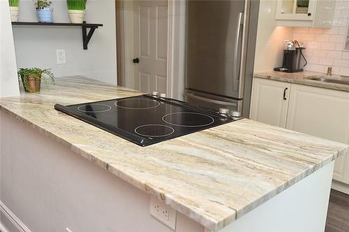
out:
{"label": "back granite countertop under the coffee maker, holding the sink", "polygon": [[330,75],[327,76],[325,73],[322,72],[311,72],[311,71],[304,71],[304,72],[278,72],[278,71],[267,71],[267,72],[255,72],[253,73],[253,77],[258,78],[264,78],[264,79],[274,79],[276,81],[281,82],[290,82],[295,84],[304,84],[306,86],[315,86],[315,87],[321,87],[321,88],[331,88],[339,91],[348,91],[349,92],[349,85],[348,84],[336,84],[331,82],[319,82],[316,80],[309,79],[311,76],[320,76],[320,77],[326,77],[330,79],[343,79],[348,80],[349,77],[343,77],[339,75]]}

